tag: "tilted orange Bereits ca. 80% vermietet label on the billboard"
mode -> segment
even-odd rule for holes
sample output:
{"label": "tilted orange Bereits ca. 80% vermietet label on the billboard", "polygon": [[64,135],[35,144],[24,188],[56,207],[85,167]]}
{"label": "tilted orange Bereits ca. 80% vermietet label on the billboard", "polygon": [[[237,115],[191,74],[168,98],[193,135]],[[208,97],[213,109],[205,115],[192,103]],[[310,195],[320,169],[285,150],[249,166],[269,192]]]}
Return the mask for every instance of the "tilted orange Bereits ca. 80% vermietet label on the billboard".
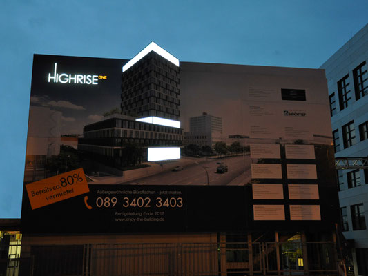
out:
{"label": "tilted orange Bereits ca. 80% vermietet label on the billboard", "polygon": [[26,189],[32,210],[90,191],[83,168],[32,182]]}

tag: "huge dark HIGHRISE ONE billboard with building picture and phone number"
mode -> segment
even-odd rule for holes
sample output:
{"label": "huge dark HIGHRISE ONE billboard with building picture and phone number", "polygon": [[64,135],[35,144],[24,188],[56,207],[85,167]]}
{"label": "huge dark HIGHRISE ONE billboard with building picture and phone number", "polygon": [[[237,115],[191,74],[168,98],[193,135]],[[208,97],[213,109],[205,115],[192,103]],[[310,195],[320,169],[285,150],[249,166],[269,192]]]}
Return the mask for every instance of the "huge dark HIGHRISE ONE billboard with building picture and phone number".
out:
{"label": "huge dark HIGHRISE ONE billboard with building picture and phone number", "polygon": [[322,70],[141,58],[34,56],[23,232],[333,226]]}

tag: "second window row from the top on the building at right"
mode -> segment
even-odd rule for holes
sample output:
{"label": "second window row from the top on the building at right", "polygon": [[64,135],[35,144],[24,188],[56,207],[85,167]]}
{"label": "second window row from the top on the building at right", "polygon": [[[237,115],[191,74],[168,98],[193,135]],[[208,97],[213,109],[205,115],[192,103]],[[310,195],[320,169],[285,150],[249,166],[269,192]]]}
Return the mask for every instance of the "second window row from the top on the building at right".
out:
{"label": "second window row from the top on the building at right", "polygon": [[[368,121],[365,121],[363,124],[359,125],[359,137],[360,141],[364,141],[368,139]],[[332,132],[333,137],[333,148],[335,149],[335,153],[342,150],[342,145],[340,141],[339,131],[334,130]],[[344,148],[349,148],[356,144],[356,131],[354,128],[354,121],[349,121],[349,123],[342,126],[342,143]]]}

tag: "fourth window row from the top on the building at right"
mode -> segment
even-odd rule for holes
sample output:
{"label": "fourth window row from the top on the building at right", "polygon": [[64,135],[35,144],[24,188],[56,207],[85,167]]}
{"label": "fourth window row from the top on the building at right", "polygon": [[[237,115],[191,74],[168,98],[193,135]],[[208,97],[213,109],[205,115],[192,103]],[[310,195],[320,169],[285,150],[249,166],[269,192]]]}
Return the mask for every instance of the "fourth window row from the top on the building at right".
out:
{"label": "fourth window row from the top on the building at right", "polygon": [[[349,219],[347,215],[348,207],[340,208],[341,228],[342,231],[349,231]],[[353,230],[365,230],[365,212],[363,204],[355,204],[350,206],[351,212],[351,226]]]}

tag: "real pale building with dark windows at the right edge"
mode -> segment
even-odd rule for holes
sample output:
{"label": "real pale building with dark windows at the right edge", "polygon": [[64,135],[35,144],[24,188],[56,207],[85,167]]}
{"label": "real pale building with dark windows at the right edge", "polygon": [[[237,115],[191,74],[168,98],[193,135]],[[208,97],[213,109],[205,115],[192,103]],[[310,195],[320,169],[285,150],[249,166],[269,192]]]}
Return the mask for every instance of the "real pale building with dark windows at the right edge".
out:
{"label": "real pale building with dark windows at the right edge", "polygon": [[[368,25],[320,68],[326,70],[336,157],[368,156]],[[337,170],[341,228],[354,240],[356,275],[368,275],[368,170]]]}

